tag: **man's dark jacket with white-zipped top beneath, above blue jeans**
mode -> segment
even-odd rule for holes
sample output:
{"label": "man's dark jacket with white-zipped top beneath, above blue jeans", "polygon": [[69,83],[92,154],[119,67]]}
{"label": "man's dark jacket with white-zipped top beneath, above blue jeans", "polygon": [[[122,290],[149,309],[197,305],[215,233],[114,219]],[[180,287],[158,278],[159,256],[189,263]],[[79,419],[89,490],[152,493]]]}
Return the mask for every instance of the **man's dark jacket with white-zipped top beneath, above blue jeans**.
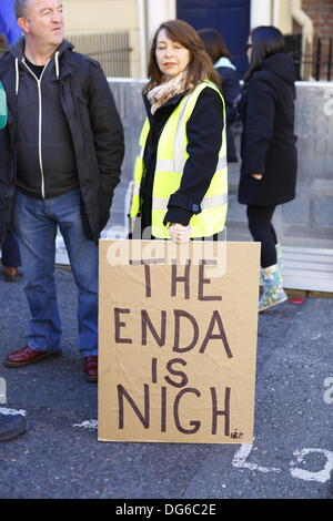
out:
{"label": "man's dark jacket with white-zipped top beneath, above blue jeans", "polygon": [[98,242],[110,216],[124,153],[123,130],[100,64],[63,41],[38,79],[24,39],[0,60],[8,126],[0,132],[0,224],[16,190],[49,198],[80,187],[85,235]]}

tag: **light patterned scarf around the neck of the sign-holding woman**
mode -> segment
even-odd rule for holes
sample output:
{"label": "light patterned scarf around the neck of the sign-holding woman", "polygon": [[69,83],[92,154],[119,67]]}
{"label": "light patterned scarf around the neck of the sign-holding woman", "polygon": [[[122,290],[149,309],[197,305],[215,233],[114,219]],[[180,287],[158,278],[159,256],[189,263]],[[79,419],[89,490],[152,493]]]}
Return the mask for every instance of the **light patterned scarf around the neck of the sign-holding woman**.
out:
{"label": "light patterned scarf around the neck of the sign-holding woman", "polygon": [[178,94],[183,94],[185,91],[193,89],[194,84],[189,83],[186,71],[181,72],[176,76],[168,81],[163,81],[160,85],[154,86],[148,92],[147,98],[151,104],[151,113],[163,105],[168,100]]}

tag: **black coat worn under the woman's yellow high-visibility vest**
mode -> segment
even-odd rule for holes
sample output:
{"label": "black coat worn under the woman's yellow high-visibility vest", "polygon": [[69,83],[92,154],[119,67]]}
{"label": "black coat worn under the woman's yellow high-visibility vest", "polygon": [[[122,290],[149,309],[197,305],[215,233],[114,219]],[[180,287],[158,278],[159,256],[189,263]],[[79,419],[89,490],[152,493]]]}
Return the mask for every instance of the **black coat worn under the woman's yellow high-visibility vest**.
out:
{"label": "black coat worn under the woman's yellow high-visibility vest", "polygon": [[[144,226],[151,224],[152,188],[159,139],[168,119],[182,99],[182,94],[171,98],[152,115],[150,102],[147,95],[143,96],[150,121],[150,132],[143,155],[144,175],[141,182]],[[213,89],[206,88],[199,95],[186,123],[189,159],[184,166],[181,186],[169,200],[164,223],[180,223],[184,226],[190,223],[195,213],[192,206],[200,206],[215,173],[223,126],[221,98]]]}

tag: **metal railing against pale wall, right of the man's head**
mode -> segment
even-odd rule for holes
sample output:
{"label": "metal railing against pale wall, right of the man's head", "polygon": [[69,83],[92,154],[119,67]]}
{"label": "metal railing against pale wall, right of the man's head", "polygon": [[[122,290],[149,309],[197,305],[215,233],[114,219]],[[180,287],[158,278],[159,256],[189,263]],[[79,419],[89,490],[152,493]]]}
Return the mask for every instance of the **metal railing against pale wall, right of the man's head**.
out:
{"label": "metal railing against pale wall, right of the man's head", "polygon": [[130,34],[128,31],[69,34],[75,51],[98,60],[109,78],[129,78]]}

